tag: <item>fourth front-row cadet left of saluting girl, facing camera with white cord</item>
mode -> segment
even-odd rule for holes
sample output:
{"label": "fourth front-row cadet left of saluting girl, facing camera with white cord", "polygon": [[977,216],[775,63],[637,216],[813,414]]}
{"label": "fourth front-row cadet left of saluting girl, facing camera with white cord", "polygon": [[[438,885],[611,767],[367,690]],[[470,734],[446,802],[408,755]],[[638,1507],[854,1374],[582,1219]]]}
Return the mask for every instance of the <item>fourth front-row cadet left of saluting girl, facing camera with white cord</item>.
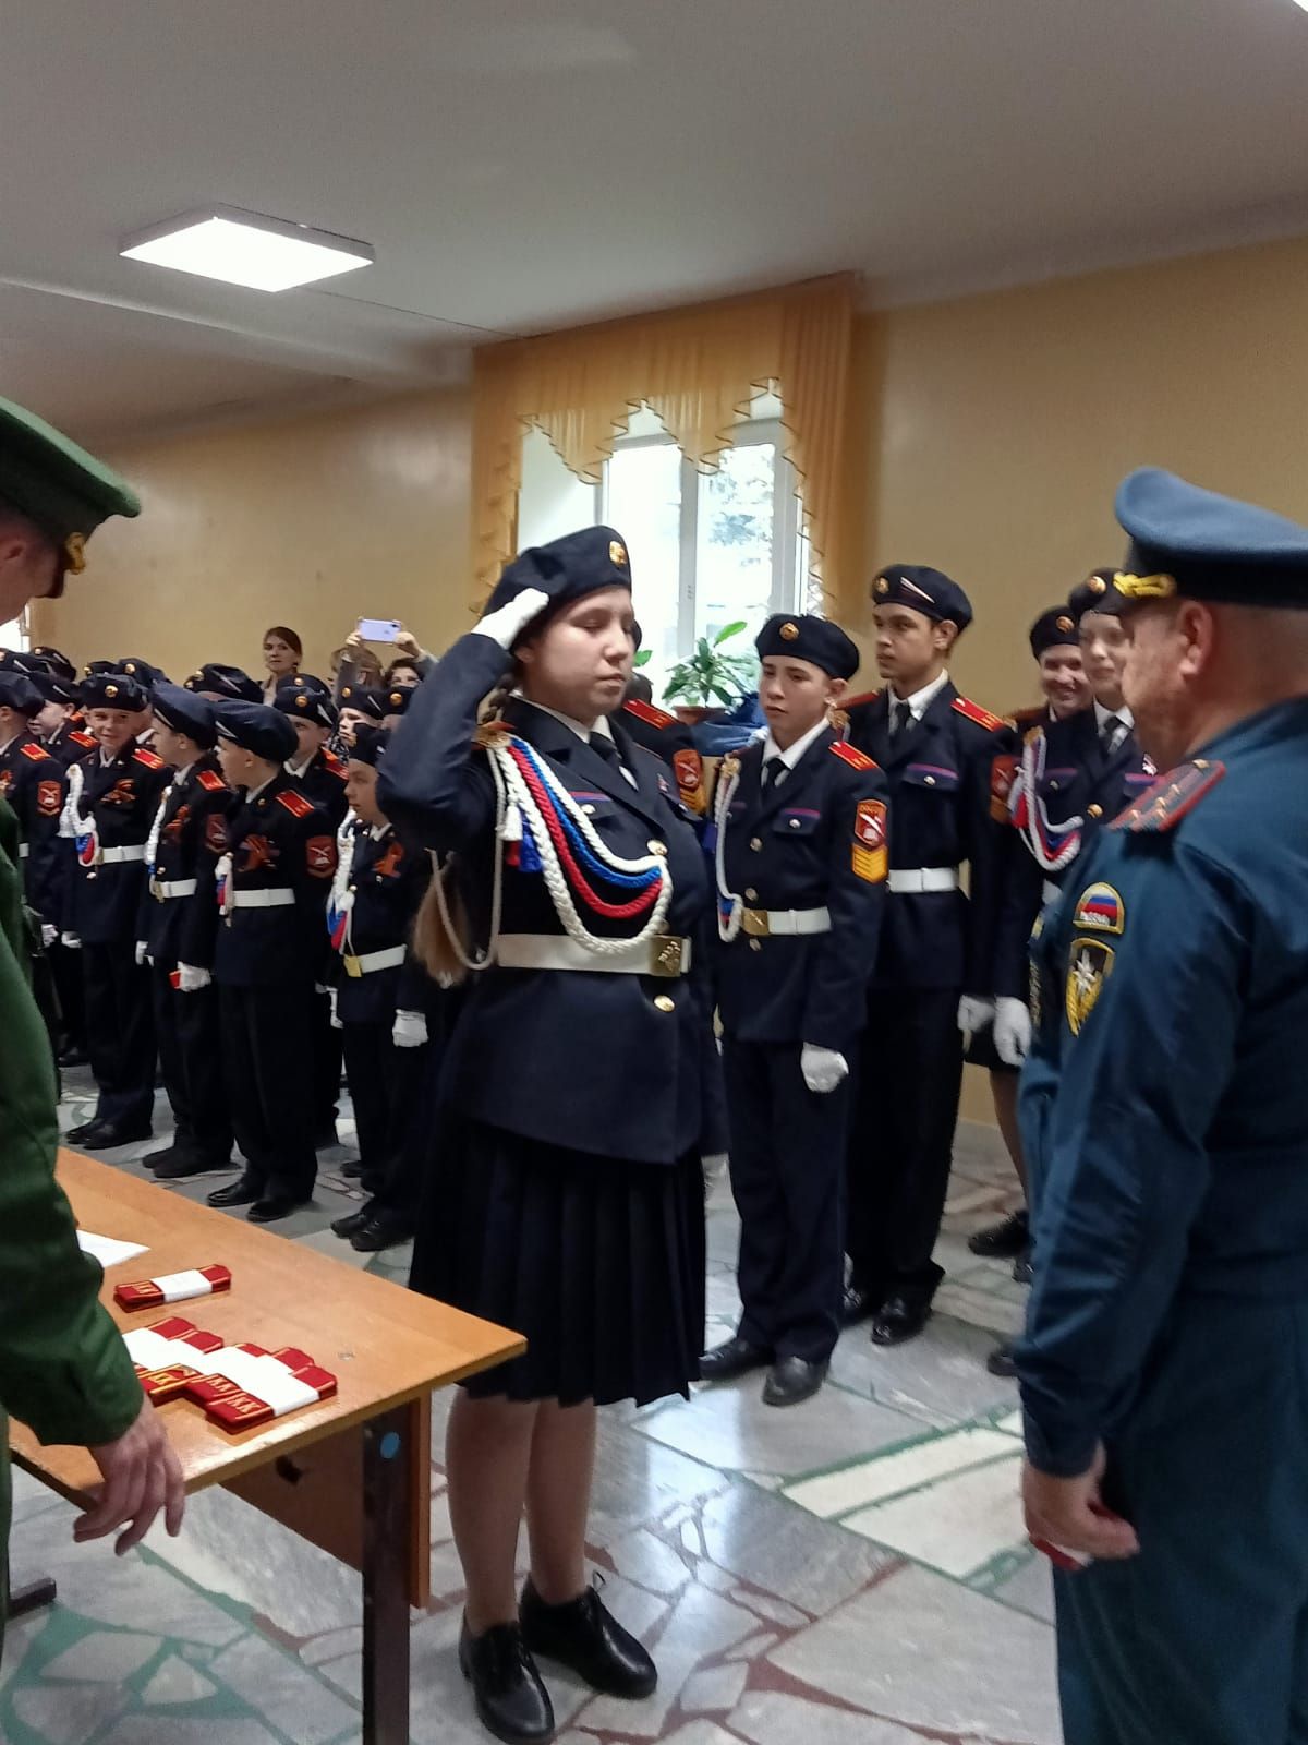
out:
{"label": "fourth front-row cadet left of saluting girl, facing camera with white cord", "polygon": [[82,682],[98,749],[68,768],[61,829],[73,843],[63,941],[82,955],[85,1031],[98,1101],[70,1143],[91,1150],[148,1139],[155,1084],[150,970],[138,946],[145,848],[167,787],[164,761],[138,745],[150,698],[126,674]]}

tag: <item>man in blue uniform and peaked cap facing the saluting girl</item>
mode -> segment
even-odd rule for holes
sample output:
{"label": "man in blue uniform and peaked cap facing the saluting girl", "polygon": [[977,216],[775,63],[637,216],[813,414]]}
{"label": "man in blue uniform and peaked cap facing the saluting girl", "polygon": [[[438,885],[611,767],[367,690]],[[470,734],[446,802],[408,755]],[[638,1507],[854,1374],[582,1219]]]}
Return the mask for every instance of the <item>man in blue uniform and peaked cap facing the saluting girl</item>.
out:
{"label": "man in blue uniform and peaked cap facing the saluting girl", "polygon": [[1067,1745],[1289,1745],[1308,1717],[1308,529],[1155,469],[1118,518],[1125,696],[1168,773],[1034,944],[1025,1515],[1060,1565]]}

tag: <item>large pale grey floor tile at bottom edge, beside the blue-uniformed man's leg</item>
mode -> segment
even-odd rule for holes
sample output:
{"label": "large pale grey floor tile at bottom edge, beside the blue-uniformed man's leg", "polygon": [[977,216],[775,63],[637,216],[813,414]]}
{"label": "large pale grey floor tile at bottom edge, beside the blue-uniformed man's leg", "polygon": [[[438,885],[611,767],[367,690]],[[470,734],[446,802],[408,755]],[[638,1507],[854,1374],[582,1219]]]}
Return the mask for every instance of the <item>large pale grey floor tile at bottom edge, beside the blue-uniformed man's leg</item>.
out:
{"label": "large pale grey floor tile at bottom edge, beside the blue-uniformed man's leg", "polygon": [[907,1565],[778,1644],[781,1672],[905,1728],[1059,1745],[1053,1632]]}

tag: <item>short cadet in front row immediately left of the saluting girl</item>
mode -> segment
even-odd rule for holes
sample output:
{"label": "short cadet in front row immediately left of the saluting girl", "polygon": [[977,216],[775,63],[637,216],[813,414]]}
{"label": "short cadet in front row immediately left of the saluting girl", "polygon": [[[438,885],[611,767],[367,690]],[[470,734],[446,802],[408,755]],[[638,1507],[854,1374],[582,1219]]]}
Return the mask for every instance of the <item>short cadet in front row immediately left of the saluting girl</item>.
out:
{"label": "short cadet in front row immediately left of the saluting girl", "polygon": [[[279,693],[281,695],[281,693]],[[328,899],[335,1024],[354,1099],[364,1204],[331,1225],[361,1251],[413,1235],[422,1127],[439,1007],[448,998],[412,949],[431,857],[405,843],[377,803],[387,733],[359,726],[351,747],[338,866]]]}

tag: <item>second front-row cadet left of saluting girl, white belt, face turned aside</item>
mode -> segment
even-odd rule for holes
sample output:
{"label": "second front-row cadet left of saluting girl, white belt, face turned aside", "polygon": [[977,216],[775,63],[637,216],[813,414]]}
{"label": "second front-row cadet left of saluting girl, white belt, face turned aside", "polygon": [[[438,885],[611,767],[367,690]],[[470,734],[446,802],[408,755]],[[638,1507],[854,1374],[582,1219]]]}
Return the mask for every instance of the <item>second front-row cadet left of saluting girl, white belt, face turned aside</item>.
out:
{"label": "second front-row cadet left of saluting girl, white belt, face turned aside", "polygon": [[241,1176],[209,1195],[211,1206],[248,1206],[255,1223],[309,1202],[314,1155],[314,1000],[328,941],[326,895],[337,836],[286,759],[291,722],[263,703],[215,703],[218,764],[241,799],[223,839],[206,845],[220,927],[218,986],[223,1071]]}

